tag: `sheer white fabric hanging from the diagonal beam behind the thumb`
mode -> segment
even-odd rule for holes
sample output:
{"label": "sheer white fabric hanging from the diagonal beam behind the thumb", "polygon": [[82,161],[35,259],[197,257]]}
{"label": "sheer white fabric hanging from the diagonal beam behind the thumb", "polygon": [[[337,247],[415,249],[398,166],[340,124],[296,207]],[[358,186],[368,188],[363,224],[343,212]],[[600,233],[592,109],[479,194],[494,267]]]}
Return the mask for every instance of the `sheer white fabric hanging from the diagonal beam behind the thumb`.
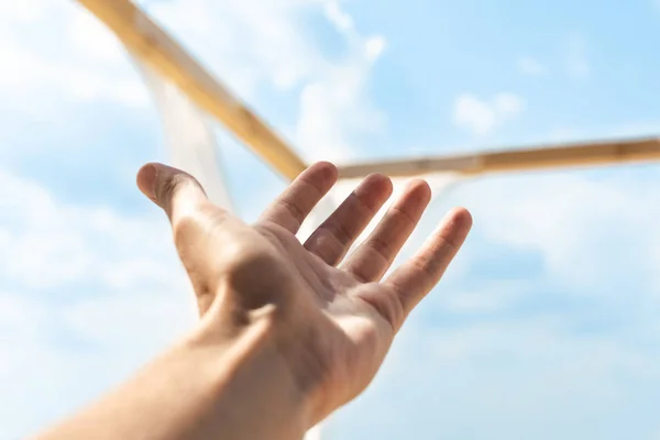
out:
{"label": "sheer white fabric hanging from the diagonal beam behind the thumb", "polygon": [[216,136],[206,114],[178,87],[163,79],[150,66],[138,57],[133,57],[133,62],[142,73],[163,119],[172,166],[195,176],[213,204],[232,211]]}

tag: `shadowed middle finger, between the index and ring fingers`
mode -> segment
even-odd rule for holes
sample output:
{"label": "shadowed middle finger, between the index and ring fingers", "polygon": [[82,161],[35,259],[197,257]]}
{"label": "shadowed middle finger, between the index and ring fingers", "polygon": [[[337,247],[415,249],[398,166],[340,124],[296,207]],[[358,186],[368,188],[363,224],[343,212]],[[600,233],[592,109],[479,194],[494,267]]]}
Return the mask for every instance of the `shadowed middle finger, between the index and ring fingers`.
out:
{"label": "shadowed middle finger, between the index and ring fingers", "polygon": [[367,176],[337,210],[309,237],[305,248],[334,266],[392,196],[392,180]]}

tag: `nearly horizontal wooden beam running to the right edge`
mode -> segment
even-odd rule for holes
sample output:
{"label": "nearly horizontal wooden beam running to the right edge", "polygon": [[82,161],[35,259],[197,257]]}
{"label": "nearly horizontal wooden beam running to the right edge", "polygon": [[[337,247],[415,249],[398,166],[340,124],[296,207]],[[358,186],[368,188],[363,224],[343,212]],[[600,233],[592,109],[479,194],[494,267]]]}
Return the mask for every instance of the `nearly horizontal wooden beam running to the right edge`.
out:
{"label": "nearly horizontal wooden beam running to the right edge", "polygon": [[594,142],[552,147],[486,152],[444,157],[419,157],[340,167],[340,178],[383,173],[406,177],[439,172],[464,175],[660,162],[660,139]]}

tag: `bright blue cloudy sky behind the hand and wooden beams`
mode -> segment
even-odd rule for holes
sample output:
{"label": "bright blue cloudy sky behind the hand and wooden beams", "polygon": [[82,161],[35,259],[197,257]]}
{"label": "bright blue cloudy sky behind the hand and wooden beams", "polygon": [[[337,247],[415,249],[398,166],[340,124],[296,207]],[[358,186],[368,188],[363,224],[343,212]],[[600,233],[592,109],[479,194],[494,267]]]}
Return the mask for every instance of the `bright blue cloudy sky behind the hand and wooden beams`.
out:
{"label": "bright blue cloudy sky behind the hand and wooden beams", "polygon": [[[142,0],[308,161],[658,135],[660,3]],[[0,439],[98,397],[195,322],[167,161],[121,46],[73,1],[0,2]],[[218,127],[237,211],[285,183]],[[461,180],[474,229],[328,439],[660,439],[657,165]]]}

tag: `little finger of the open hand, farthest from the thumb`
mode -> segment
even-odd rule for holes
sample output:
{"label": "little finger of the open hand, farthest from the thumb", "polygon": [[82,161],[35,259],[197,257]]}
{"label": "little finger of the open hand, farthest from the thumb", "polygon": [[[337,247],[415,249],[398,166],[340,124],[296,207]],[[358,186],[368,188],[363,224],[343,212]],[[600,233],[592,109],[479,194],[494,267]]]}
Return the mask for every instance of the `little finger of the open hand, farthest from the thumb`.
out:
{"label": "little finger of the open hand, farthest from the thumb", "polygon": [[398,297],[404,317],[438,284],[471,228],[470,212],[453,209],[417,254],[387,278],[385,284]]}

